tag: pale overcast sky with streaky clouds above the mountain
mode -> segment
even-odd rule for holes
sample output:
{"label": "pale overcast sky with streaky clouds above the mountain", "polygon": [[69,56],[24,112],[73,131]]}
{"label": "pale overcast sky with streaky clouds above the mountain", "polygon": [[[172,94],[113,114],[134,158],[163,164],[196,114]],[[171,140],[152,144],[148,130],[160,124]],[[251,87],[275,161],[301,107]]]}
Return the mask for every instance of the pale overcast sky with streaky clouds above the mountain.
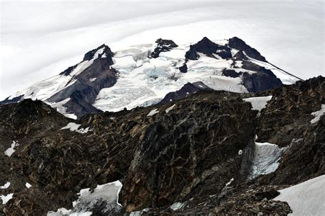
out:
{"label": "pale overcast sky with streaky clouds above the mountain", "polygon": [[238,36],[307,79],[324,76],[324,1],[1,1],[0,99],[77,64],[157,38]]}

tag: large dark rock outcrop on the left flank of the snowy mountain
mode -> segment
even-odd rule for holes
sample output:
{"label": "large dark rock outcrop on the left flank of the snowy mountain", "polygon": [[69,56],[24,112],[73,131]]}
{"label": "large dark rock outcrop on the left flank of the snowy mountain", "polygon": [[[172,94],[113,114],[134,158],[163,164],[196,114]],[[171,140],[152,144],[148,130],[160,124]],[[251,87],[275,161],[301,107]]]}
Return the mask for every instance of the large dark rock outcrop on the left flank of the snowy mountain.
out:
{"label": "large dark rock outcrop on the left flank of the snowy mountain", "polygon": [[[75,75],[71,83],[67,83],[68,87],[60,92],[53,94],[47,99],[50,103],[60,102],[64,99],[70,98],[69,102],[64,104],[67,107],[67,112],[75,113],[77,118],[84,116],[86,113],[98,113],[99,109],[93,107],[93,103],[99,91],[104,87],[111,87],[117,81],[118,71],[111,67],[112,55],[110,48],[105,44],[99,46],[97,49],[86,53],[84,60],[93,57],[99,49],[104,49],[102,54],[93,61],[91,66],[88,66],[82,73]],[[105,55],[103,57],[103,55]],[[76,65],[77,66],[77,65]],[[70,67],[62,72],[62,75],[68,76],[76,67]],[[94,81],[91,79],[95,78]]]}

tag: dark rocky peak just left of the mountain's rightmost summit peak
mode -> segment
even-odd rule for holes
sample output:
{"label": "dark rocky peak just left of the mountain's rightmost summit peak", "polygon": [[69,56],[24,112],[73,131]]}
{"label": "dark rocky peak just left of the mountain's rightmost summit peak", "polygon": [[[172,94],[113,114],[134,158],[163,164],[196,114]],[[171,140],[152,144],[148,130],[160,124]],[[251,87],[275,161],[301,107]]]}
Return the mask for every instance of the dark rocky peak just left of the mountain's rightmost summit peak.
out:
{"label": "dark rocky peak just left of the mountain's rightmost summit peak", "polygon": [[185,54],[186,59],[197,60],[200,57],[197,52],[204,53],[210,57],[215,57],[215,55],[217,55],[222,59],[228,59],[232,57],[230,48],[228,46],[215,44],[214,42],[208,40],[206,37],[197,42],[197,44],[190,46],[189,51],[187,51]]}

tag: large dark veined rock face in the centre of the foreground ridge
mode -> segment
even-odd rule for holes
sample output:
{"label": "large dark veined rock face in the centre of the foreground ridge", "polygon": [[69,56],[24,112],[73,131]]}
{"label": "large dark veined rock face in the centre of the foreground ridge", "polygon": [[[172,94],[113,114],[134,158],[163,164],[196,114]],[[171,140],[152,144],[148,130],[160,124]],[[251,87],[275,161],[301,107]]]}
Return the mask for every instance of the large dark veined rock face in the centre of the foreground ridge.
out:
{"label": "large dark veined rock face in the centre of the foreground ridge", "polygon": [[203,94],[190,109],[184,102],[176,106],[154,116],[134,154],[121,193],[127,211],[217,193],[240,170],[238,151],[254,136],[250,105]]}

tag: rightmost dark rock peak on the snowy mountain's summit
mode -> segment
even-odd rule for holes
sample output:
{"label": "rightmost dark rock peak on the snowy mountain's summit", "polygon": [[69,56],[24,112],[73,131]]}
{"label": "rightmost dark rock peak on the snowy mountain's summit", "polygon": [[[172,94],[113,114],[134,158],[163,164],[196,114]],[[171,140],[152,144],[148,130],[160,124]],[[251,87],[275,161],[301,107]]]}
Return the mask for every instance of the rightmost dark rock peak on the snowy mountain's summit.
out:
{"label": "rightmost dark rock peak on the snowy mountain's summit", "polygon": [[246,55],[249,57],[252,57],[253,59],[258,59],[259,61],[266,62],[266,59],[264,56],[261,55],[256,49],[252,48],[251,46],[248,46],[243,40],[234,37],[230,38],[228,41],[228,46],[234,49],[238,49],[239,51],[245,52]]}

